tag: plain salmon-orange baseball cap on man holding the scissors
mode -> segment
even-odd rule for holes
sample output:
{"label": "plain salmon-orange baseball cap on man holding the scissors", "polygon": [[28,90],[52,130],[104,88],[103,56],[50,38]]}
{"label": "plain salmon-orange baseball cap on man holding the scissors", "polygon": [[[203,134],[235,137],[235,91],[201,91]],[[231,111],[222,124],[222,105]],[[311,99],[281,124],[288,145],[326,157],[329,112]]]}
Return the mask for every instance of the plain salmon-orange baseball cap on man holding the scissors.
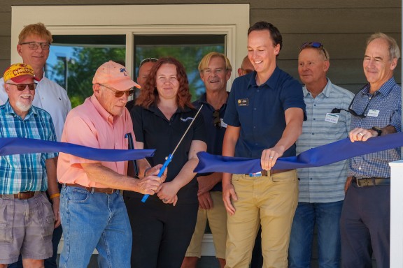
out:
{"label": "plain salmon-orange baseball cap on man holding the scissors", "polygon": [[92,84],[104,84],[120,91],[126,91],[132,87],[140,88],[140,85],[129,77],[126,67],[114,61],[108,61],[99,66],[92,79]]}

